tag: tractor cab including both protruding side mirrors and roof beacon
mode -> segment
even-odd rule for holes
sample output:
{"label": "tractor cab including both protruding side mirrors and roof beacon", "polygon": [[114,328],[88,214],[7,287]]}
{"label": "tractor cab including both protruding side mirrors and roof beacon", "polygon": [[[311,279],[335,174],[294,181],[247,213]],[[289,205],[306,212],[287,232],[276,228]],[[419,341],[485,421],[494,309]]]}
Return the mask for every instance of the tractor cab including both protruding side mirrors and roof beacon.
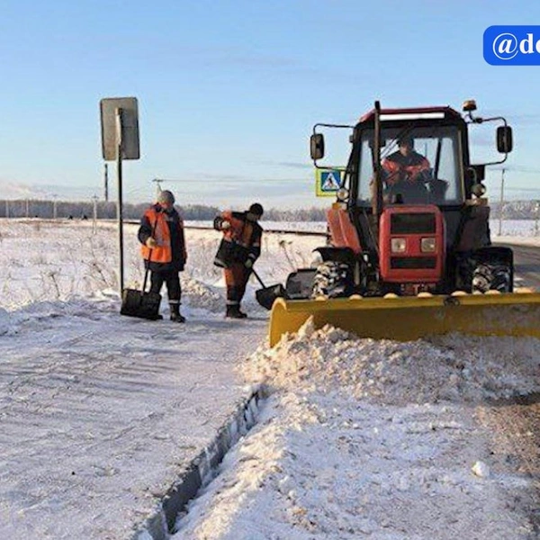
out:
{"label": "tractor cab including both protruding side mirrors and roof beacon", "polygon": [[[336,238],[357,236],[356,253],[378,257],[383,212],[396,205],[428,205],[443,213],[446,247],[463,252],[489,246],[489,207],[482,197],[482,181],[486,165],[507,158],[512,131],[504,118],[475,117],[475,110],[473,100],[464,103],[464,115],[449,106],[381,109],[376,102],[355,126],[317,124],[311,157],[318,167],[325,154],[319,126],[352,130],[338,204],[329,211],[331,243],[345,247]],[[503,124],[497,129],[497,149],[505,155],[500,161],[472,165],[468,130],[488,121]],[[340,213],[347,216],[338,219]]]}

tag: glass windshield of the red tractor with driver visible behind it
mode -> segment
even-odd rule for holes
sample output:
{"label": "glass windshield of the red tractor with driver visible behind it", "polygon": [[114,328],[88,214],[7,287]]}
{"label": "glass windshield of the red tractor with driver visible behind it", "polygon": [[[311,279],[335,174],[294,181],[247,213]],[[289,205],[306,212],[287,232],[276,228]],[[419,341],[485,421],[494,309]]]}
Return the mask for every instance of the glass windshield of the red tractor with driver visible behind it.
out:
{"label": "glass windshield of the red tractor with driver visible behind it", "polygon": [[[463,152],[456,126],[407,126],[381,130],[384,203],[460,204],[464,201]],[[362,130],[358,204],[374,191],[374,130]]]}

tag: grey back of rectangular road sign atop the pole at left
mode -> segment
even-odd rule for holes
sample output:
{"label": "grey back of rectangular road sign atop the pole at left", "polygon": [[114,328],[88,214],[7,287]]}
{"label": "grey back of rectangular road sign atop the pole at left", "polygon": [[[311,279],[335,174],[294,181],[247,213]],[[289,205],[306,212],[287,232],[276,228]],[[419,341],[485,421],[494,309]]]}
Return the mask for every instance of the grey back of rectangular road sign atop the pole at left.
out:
{"label": "grey back of rectangular road sign atop the pole at left", "polygon": [[136,97],[111,97],[99,103],[102,122],[103,159],[118,156],[117,115],[121,112],[121,158],[139,159],[139,110]]}

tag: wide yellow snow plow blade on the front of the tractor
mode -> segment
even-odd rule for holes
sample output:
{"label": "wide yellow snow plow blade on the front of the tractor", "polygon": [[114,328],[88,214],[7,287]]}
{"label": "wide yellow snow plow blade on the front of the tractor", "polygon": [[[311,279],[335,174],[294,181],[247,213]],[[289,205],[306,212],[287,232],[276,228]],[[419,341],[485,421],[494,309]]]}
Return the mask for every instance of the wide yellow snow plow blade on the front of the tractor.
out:
{"label": "wide yellow snow plow blade on the front of the tractor", "polygon": [[392,298],[291,300],[278,298],[270,315],[270,347],[313,317],[360,338],[410,341],[434,334],[540,338],[540,293],[454,293]]}

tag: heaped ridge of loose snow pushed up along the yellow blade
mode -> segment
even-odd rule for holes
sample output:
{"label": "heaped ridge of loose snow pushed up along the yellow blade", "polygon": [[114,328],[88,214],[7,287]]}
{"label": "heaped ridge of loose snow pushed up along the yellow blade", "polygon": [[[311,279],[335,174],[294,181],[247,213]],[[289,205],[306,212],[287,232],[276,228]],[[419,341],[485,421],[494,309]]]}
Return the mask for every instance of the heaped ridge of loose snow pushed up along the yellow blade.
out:
{"label": "heaped ridge of loose snow pushed up along the yellow blade", "polygon": [[359,339],[308,320],[242,367],[249,382],[341,391],[371,401],[437,403],[509,398],[540,390],[540,341],[449,336],[432,342]]}

